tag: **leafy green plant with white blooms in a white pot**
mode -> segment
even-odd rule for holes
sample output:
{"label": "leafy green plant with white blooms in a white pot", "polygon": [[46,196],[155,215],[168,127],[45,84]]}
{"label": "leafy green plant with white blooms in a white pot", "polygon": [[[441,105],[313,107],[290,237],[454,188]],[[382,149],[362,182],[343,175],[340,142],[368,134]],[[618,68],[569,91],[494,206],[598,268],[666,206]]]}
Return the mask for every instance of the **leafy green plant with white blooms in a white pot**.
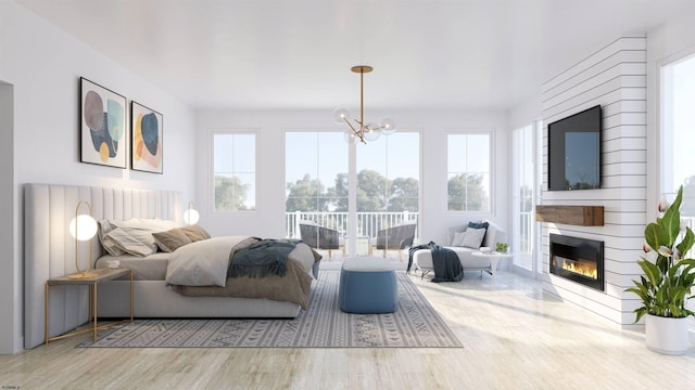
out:
{"label": "leafy green plant with white blooms in a white pot", "polygon": [[642,299],[642,306],[634,310],[635,323],[646,315],[647,348],[667,354],[687,351],[687,317],[695,315],[686,308],[688,299],[694,297],[695,260],[683,258],[693,247],[695,235],[690,227],[684,232],[681,229],[682,198],[683,186],[673,204],[659,203],[659,212],[664,214],[645,227],[647,255],[637,260],[644,275],[640,281],[632,281],[634,287],[626,290]]}

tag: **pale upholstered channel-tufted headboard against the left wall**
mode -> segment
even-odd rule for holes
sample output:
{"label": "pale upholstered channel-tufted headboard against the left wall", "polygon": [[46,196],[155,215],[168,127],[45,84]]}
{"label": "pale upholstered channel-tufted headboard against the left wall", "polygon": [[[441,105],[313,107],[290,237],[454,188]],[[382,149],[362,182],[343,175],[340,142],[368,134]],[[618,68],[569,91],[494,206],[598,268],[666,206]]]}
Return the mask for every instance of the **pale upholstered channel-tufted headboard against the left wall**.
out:
{"label": "pale upholstered channel-tufted headboard against the left wall", "polygon": [[[45,340],[45,283],[75,272],[75,240],[68,224],[80,200],[91,205],[92,217],[126,220],[160,218],[181,221],[181,193],[176,191],[104,188],[54,184],[24,186],[24,348]],[[84,212],[80,209],[80,213]],[[91,240],[92,261],[101,255]],[[89,263],[89,247],[79,246],[80,268]],[[90,264],[91,266],[91,264]],[[56,336],[87,322],[87,288],[56,286],[49,298],[49,335]]]}

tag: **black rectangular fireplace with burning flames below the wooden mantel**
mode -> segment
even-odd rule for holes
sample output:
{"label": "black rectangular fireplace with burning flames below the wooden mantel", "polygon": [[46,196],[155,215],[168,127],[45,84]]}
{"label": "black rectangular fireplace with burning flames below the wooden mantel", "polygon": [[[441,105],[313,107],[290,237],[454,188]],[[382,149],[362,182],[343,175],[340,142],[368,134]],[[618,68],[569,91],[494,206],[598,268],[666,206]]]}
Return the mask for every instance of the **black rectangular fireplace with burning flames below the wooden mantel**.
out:
{"label": "black rectangular fireplace with burning flames below the wooden mantel", "polygon": [[551,234],[551,273],[604,290],[604,242]]}

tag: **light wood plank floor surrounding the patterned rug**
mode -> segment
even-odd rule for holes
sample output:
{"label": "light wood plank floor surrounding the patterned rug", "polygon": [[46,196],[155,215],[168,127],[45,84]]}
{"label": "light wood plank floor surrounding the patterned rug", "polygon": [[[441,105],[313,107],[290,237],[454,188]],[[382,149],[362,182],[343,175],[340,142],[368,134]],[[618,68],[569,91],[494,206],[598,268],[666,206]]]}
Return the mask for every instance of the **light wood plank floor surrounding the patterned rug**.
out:
{"label": "light wood plank floor surrounding the patterned rug", "polygon": [[644,335],[548,296],[536,282],[470,272],[414,277],[456,333],[452,349],[89,349],[70,338],[0,356],[20,389],[694,389],[695,349],[666,356]]}

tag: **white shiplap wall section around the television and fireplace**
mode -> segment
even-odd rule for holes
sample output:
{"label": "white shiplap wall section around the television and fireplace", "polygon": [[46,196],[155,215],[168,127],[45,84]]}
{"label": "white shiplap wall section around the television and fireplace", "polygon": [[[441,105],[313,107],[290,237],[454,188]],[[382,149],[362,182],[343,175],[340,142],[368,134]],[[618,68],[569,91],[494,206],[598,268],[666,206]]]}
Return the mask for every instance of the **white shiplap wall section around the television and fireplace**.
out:
{"label": "white shiplap wall section around the television and fireplace", "polygon": [[[601,190],[547,191],[547,123],[601,104]],[[604,226],[543,223],[544,289],[622,326],[639,306],[623,290],[641,271],[646,221],[646,38],[622,37],[543,83],[544,205],[604,206]],[[604,242],[605,290],[548,273],[548,234]]]}

